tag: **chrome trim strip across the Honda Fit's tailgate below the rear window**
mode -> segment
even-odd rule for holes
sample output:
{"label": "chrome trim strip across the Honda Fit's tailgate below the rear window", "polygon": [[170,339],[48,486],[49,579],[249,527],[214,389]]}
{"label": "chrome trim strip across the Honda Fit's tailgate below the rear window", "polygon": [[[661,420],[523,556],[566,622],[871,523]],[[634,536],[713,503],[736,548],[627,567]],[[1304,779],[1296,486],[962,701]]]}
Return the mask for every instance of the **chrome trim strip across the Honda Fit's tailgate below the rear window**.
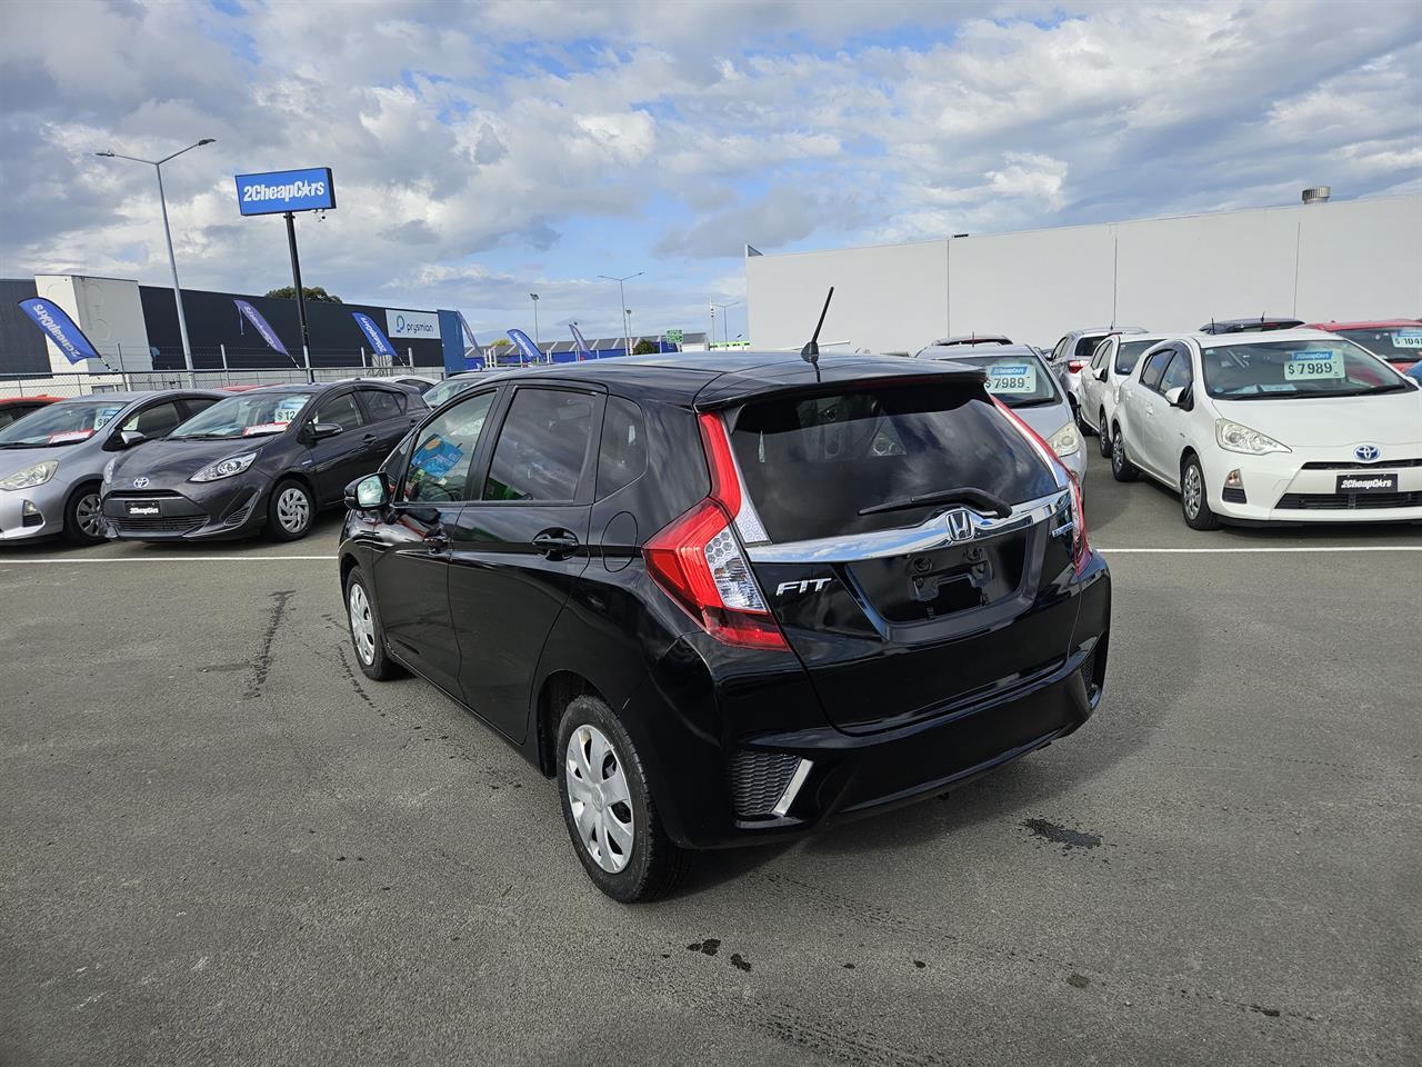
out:
{"label": "chrome trim strip across the Honda Fit's tailgate below the rear window", "polygon": [[[957,508],[954,508],[956,511]],[[1025,501],[1012,508],[1007,518],[980,515],[963,508],[973,519],[971,538],[954,538],[943,519],[943,512],[931,515],[907,529],[876,529],[869,534],[846,534],[838,538],[791,541],[784,545],[747,545],[745,553],[757,563],[840,563],[855,559],[883,559],[913,552],[933,552],[951,545],[967,545],[981,538],[1025,529],[1042,519],[1065,515],[1071,518],[1071,492],[1058,489],[1047,497]],[[1064,532],[1054,531],[1057,534]]]}

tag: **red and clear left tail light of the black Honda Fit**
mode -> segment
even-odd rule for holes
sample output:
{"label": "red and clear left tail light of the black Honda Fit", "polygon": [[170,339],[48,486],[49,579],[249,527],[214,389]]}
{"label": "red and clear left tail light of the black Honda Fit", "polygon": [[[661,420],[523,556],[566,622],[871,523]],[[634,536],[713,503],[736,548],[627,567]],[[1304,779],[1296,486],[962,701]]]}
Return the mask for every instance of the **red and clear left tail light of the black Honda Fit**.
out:
{"label": "red and clear left tail light of the black Honda Fit", "polygon": [[741,481],[720,415],[698,417],[711,495],[641,549],[647,573],[701,629],[725,644],[788,649],[735,536]]}

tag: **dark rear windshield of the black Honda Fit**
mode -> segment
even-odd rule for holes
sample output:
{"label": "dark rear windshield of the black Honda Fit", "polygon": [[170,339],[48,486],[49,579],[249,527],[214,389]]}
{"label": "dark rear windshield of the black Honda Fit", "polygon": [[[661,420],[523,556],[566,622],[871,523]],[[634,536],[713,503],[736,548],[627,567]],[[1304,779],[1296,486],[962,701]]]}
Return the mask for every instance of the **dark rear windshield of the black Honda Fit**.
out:
{"label": "dark rear windshield of the black Honda Fit", "polygon": [[933,508],[866,508],[950,489],[1007,504],[1045,497],[1052,471],[977,384],[921,381],[747,404],[731,447],[771,541],[913,526]]}

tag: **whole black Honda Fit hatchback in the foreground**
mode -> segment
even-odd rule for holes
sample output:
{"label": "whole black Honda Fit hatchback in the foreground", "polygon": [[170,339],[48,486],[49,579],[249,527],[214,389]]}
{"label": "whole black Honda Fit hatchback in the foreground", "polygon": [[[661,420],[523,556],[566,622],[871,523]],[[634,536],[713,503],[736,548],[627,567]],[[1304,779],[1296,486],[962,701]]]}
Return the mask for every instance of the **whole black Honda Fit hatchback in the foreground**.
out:
{"label": "whole black Honda Fit hatchback in the foreground", "polygon": [[1081,494],[981,370],[631,357],[501,376],[347,489],[361,669],[556,778],[619,901],[687,849],[943,792],[1101,699]]}

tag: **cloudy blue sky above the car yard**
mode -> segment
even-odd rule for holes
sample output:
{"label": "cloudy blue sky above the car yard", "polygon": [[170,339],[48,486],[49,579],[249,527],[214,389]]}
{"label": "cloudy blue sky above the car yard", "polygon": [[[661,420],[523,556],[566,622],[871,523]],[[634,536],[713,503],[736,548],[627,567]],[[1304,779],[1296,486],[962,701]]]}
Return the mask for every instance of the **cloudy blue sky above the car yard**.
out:
{"label": "cloudy blue sky above the car yard", "polygon": [[[328,165],[303,273],[483,340],[705,329],[742,248],[1422,191],[1422,3],[10,3],[0,273],[290,283],[232,175]],[[21,31],[21,26],[24,31]],[[46,30],[44,27],[48,27]],[[50,31],[53,30],[53,31]],[[744,303],[731,336],[745,329]]]}

